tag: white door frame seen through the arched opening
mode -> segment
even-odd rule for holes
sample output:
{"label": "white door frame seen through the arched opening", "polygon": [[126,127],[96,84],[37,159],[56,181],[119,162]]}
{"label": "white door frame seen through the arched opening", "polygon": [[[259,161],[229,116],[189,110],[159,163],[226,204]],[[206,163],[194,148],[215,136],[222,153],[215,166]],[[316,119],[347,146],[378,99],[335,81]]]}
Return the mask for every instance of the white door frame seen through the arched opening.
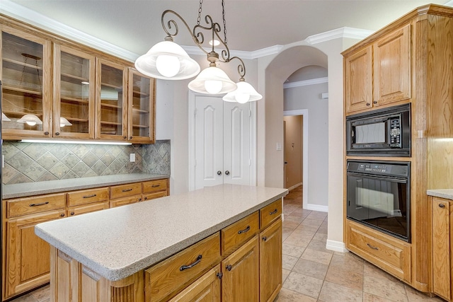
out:
{"label": "white door frame seen through the arched opening", "polygon": [[302,208],[307,209],[309,199],[309,110],[285,110],[284,116],[302,115]]}

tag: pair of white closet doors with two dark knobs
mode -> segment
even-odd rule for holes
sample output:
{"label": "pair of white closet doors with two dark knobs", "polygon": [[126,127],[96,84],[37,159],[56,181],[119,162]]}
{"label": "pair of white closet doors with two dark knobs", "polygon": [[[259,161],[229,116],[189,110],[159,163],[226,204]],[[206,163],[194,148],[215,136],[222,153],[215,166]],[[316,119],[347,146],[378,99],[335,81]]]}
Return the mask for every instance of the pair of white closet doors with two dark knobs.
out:
{"label": "pair of white closet doors with two dark knobs", "polygon": [[250,112],[249,104],[195,97],[195,189],[251,185]]}

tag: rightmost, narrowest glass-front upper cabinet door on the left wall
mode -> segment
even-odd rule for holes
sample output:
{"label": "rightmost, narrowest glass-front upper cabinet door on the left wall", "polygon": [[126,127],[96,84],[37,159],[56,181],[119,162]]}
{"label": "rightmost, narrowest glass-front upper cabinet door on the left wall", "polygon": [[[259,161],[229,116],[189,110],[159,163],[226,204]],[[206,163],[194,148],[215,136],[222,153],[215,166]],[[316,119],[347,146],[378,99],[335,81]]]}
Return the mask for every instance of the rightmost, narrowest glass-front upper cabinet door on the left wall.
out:
{"label": "rightmost, narrowest glass-front upper cabinet door on the left wall", "polygon": [[128,140],[154,144],[156,79],[129,69]]}

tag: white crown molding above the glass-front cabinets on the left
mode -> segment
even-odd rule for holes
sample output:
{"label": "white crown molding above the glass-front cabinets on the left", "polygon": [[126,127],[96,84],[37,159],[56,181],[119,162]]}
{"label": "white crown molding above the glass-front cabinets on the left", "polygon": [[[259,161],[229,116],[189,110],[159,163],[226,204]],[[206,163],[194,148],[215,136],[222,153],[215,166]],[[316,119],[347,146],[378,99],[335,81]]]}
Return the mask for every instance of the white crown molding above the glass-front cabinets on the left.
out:
{"label": "white crown molding above the glass-front cabinets on the left", "polygon": [[42,14],[33,11],[30,8],[18,5],[9,0],[0,1],[0,13],[3,13],[6,16],[10,16],[11,18],[15,18],[31,25],[35,25],[39,28],[50,31],[51,33],[55,33],[56,35],[67,37],[76,42],[80,42],[84,45],[96,48],[96,50],[101,50],[103,52],[113,54],[116,57],[127,59],[130,62],[134,62],[135,59],[139,57],[139,55],[135,54],[134,52],[130,52],[129,50],[125,50],[121,47],[117,47],[116,45],[105,42],[101,39],[98,39],[97,37],[93,37],[92,35],[87,35],[80,30],[76,30],[67,25],[64,25],[63,23],[59,23],[51,18],[43,16]]}

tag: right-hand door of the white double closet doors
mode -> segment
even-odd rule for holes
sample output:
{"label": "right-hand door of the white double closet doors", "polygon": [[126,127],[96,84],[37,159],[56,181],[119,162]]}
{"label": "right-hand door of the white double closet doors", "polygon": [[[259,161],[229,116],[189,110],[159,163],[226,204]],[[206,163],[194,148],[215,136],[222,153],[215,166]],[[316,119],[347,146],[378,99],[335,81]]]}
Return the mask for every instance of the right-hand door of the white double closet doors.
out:
{"label": "right-hand door of the white double closet doors", "polygon": [[224,102],[224,183],[250,185],[250,180],[250,105]]}

